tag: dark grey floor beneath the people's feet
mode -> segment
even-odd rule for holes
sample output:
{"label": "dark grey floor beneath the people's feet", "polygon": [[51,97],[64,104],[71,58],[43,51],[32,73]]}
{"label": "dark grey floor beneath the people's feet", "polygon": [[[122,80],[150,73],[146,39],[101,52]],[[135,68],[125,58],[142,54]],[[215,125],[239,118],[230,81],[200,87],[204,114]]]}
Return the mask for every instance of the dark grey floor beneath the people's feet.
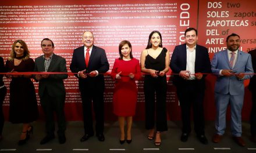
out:
{"label": "dark grey floor beneath the people's feet", "polygon": [[[214,134],[214,122],[208,121],[205,127],[205,135],[209,140],[208,145],[201,144],[191,132],[189,140],[186,143],[180,141],[180,121],[168,121],[168,132],[162,134],[162,145],[155,147],[154,141],[147,139],[147,130],[144,129],[144,121],[135,121],[133,123],[131,144],[119,144],[118,122],[105,122],[104,142],[99,142],[97,137],[91,137],[88,141],[81,143],[80,137],[83,136],[83,122],[67,122],[65,144],[59,144],[58,138],[47,144],[40,145],[40,140],[45,136],[44,122],[33,122],[34,133],[27,144],[17,145],[22,125],[14,125],[5,122],[3,128],[3,140],[0,142],[0,152],[256,152],[256,144],[251,143],[250,125],[243,122],[243,138],[246,141],[246,147],[240,147],[232,140],[230,129],[224,135],[221,143],[211,142]],[[227,123],[229,126],[229,123]],[[225,149],[226,150],[223,150]],[[12,150],[13,149],[13,150]],[[38,151],[38,149],[50,149]],[[217,149],[217,150],[216,150]],[[15,151],[14,151],[15,150]]]}

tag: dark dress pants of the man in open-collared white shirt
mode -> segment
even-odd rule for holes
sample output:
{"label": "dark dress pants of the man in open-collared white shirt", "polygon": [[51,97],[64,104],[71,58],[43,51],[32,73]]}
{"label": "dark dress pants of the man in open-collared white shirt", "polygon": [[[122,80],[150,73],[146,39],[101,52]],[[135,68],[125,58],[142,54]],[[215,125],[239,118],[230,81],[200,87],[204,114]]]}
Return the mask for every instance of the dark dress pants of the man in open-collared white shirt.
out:
{"label": "dark dress pants of the man in open-collared white shirt", "polygon": [[197,80],[185,81],[177,85],[177,96],[182,111],[182,132],[191,132],[190,110],[193,107],[194,130],[198,136],[204,135],[204,86]]}

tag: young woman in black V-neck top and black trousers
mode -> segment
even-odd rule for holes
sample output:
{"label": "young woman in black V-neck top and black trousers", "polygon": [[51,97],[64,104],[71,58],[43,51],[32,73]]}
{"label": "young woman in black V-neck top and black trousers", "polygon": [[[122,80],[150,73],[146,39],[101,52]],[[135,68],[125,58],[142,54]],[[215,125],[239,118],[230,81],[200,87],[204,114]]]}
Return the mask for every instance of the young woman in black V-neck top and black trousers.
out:
{"label": "young woman in black V-neck top and black trousers", "polygon": [[[145,128],[150,130],[149,140],[154,139],[156,131],[155,145],[159,146],[161,145],[161,132],[167,130],[165,74],[169,71],[170,63],[169,51],[162,48],[162,36],[159,31],[151,32],[147,48],[141,52],[140,62],[141,71],[147,73],[144,79]],[[156,103],[155,96],[157,97]]]}

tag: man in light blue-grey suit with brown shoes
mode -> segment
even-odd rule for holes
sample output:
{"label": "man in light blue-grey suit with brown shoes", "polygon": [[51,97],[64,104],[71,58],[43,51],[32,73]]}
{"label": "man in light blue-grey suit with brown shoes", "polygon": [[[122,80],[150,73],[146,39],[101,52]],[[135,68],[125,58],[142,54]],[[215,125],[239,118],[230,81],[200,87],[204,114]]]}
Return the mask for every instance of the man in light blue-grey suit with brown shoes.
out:
{"label": "man in light blue-grey suit with brown shoes", "polygon": [[219,143],[226,129],[227,105],[231,107],[231,132],[234,141],[245,146],[241,138],[241,110],[244,101],[244,80],[250,79],[253,66],[251,55],[239,50],[240,37],[231,34],[226,38],[227,49],[215,53],[211,61],[212,72],[218,76],[215,83],[216,134],[212,137],[214,143]]}

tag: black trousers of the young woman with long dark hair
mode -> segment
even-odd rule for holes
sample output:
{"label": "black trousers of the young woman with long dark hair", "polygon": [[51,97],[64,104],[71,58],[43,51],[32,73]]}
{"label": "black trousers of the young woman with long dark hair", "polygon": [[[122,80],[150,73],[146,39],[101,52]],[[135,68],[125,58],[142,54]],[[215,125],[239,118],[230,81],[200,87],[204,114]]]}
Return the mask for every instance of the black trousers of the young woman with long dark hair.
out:
{"label": "black trousers of the young woman with long dark hair", "polygon": [[[145,128],[154,129],[156,119],[156,129],[158,132],[167,130],[166,116],[166,76],[153,78],[150,75],[144,79],[145,94]],[[155,97],[157,101],[155,103]]]}

